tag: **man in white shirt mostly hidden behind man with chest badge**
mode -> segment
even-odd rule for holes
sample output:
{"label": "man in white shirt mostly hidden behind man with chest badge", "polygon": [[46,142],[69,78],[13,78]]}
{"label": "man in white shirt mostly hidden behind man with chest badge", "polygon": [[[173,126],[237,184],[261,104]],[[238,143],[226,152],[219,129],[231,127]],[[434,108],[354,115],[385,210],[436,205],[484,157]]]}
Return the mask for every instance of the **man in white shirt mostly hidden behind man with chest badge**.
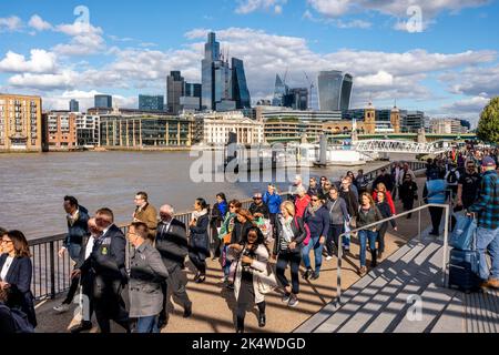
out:
{"label": "man in white shirt mostly hidden behind man with chest badge", "polygon": [[[82,247],[80,253],[80,260],[78,264],[74,266],[75,270],[80,270],[80,267],[83,265],[83,263],[90,257],[93,251],[93,245],[95,244],[95,241],[99,240],[102,232],[99,230],[95,219],[89,220],[89,232],[90,236],[86,240],[86,244],[84,247]],[[80,284],[81,284],[81,293],[83,294],[83,303],[82,303],[82,321],[79,325],[73,326],[70,332],[81,333],[85,331],[92,329],[92,314],[93,314],[93,274],[92,272],[83,272],[78,276],[77,273],[72,273],[71,275],[73,278],[80,277]]]}

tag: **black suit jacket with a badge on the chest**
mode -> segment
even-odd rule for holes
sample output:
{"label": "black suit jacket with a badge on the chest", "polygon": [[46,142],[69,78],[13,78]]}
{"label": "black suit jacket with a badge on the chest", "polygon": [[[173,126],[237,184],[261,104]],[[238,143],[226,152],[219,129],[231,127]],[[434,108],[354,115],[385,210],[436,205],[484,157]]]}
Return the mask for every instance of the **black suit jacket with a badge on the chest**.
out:
{"label": "black suit jacket with a badge on the chest", "polygon": [[92,254],[83,262],[80,270],[92,272],[96,277],[108,281],[128,283],[125,268],[126,240],[116,225],[99,237],[93,245]]}

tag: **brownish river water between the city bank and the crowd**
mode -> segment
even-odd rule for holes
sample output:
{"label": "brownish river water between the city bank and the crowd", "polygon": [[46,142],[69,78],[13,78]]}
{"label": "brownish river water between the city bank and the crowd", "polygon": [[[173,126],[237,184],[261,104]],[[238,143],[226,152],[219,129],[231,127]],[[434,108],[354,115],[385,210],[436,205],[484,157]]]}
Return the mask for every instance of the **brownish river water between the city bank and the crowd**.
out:
{"label": "brownish river water between the city bank and the crowd", "polygon": [[[196,197],[213,204],[220,192],[228,199],[247,199],[266,190],[267,181],[193,183],[190,171],[196,159],[189,152],[0,154],[0,226],[20,230],[29,240],[64,233],[64,195],[74,195],[91,213],[112,209],[121,224],[131,221],[139,191],[147,192],[156,209],[170,203],[177,212],[186,212]],[[363,169],[384,164],[368,163]],[[357,169],[313,169],[310,174],[337,180],[348,170]],[[282,191],[288,187],[278,183]]]}

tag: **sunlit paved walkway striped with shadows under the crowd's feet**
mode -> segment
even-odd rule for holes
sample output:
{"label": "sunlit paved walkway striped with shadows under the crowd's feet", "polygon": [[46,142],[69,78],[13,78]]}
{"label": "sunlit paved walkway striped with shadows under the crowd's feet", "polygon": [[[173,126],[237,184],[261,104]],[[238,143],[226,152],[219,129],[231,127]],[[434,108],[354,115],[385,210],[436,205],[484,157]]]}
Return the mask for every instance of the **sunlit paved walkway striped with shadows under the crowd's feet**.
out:
{"label": "sunlit paved walkway striped with shadows under the crowd's feet", "polygon": [[[422,185],[422,180],[419,181]],[[422,189],[422,187],[421,187]],[[421,192],[420,192],[421,193]],[[398,209],[401,207],[398,205]],[[421,214],[422,225],[429,224],[427,212]],[[417,215],[413,220],[401,219],[398,222],[399,231],[391,231],[387,234],[385,257],[397,252],[413,236],[417,234]],[[343,263],[343,285],[349,287],[359,280],[358,268],[358,247],[353,245],[353,254],[347,254]],[[369,256],[368,256],[369,258]],[[189,265],[189,264],[187,264]],[[189,272],[189,278],[194,277],[193,272]],[[235,324],[235,298],[233,292],[223,287],[220,278],[222,272],[220,264],[214,261],[208,262],[207,277],[204,284],[190,282],[187,292],[193,301],[193,316],[189,320],[182,317],[183,310],[174,305],[173,314],[170,317],[169,325],[163,328],[164,333],[233,333]],[[279,293],[272,293],[266,296],[267,302],[267,326],[258,328],[256,307],[246,315],[246,331],[249,333],[289,333],[301,324],[306,322],[324,306],[329,304],[336,296],[336,258],[323,264],[320,278],[314,282],[304,282],[301,284],[299,305],[296,308],[289,308],[281,302]],[[57,301],[60,302],[60,301]],[[37,310],[39,318],[38,332],[61,333],[74,324],[72,314],[55,315],[51,310],[57,302],[47,302]],[[116,328],[116,332],[121,329]],[[92,332],[96,332],[94,328]]]}

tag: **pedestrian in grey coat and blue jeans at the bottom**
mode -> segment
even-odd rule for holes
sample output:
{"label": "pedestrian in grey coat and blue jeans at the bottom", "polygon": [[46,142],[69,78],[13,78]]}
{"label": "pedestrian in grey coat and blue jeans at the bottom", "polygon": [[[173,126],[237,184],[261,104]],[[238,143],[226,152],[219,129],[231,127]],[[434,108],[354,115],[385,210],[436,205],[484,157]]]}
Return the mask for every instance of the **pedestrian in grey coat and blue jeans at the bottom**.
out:
{"label": "pedestrian in grey coat and blue jeans at the bottom", "polygon": [[167,280],[169,272],[160,252],[150,242],[145,223],[133,222],[128,239],[134,248],[130,261],[130,317],[136,318],[138,333],[160,333],[161,284]]}

